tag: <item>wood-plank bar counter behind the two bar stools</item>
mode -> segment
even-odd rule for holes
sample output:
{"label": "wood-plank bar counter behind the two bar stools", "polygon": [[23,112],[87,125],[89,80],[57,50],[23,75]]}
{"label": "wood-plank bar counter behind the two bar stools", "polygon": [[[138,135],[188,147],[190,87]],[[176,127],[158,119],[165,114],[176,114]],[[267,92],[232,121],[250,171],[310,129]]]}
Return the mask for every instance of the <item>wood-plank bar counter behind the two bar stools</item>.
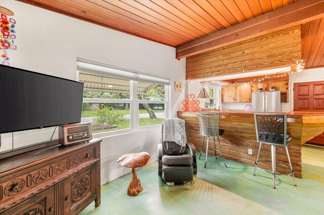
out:
{"label": "wood-plank bar counter behind the two bar stools", "polygon": [[[244,111],[201,111],[202,113],[220,112],[219,128],[225,133],[220,136],[223,155],[226,159],[235,160],[254,166],[257,157],[259,143],[256,141],[254,112]],[[278,113],[282,114],[282,113]],[[200,151],[203,144],[203,136],[200,135],[199,122],[196,112],[178,111],[177,116],[186,121],[187,141],[194,144]],[[324,113],[320,112],[291,112],[287,113],[287,134],[292,137],[288,146],[295,176],[302,178],[301,145],[316,137],[324,131]],[[206,138],[207,139],[207,138]],[[207,140],[205,140],[207,141]],[[214,146],[210,138],[210,148]],[[216,144],[217,147],[218,144]],[[248,149],[253,154],[248,154]],[[211,153],[211,152],[210,152]],[[271,160],[270,145],[262,144],[259,160]],[[276,147],[276,161],[289,165],[285,147]],[[260,164],[260,165],[259,165]],[[271,170],[271,164],[258,165]],[[278,172],[289,171],[277,165]]]}

